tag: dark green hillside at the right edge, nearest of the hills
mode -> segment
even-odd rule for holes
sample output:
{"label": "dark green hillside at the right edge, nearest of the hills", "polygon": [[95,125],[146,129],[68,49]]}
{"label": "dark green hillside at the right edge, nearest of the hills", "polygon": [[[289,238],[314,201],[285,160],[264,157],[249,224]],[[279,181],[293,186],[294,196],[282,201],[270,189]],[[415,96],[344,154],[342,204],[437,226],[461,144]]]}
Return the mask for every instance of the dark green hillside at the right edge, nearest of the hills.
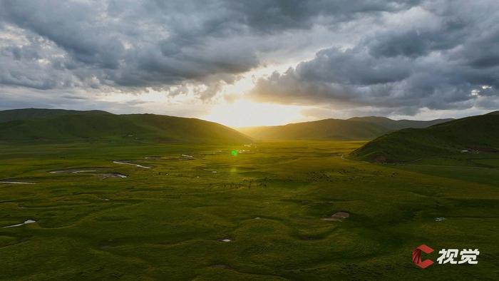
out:
{"label": "dark green hillside at the right edge, nearest of the hills", "polygon": [[366,143],[352,158],[374,162],[402,162],[499,148],[499,112],[441,123],[429,128],[408,128]]}

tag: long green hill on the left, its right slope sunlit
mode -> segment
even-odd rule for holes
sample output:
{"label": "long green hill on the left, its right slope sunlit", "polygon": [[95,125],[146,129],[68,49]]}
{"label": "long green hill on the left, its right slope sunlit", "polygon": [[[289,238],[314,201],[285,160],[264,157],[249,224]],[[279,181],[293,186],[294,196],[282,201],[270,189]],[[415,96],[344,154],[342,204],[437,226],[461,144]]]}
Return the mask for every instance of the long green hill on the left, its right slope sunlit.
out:
{"label": "long green hill on the left, its right slope sunlit", "polygon": [[[9,116],[9,113],[15,113]],[[115,115],[105,111],[0,111],[0,141],[145,141],[248,143],[232,128],[195,118],[154,114]],[[8,116],[8,117],[5,117]]]}

